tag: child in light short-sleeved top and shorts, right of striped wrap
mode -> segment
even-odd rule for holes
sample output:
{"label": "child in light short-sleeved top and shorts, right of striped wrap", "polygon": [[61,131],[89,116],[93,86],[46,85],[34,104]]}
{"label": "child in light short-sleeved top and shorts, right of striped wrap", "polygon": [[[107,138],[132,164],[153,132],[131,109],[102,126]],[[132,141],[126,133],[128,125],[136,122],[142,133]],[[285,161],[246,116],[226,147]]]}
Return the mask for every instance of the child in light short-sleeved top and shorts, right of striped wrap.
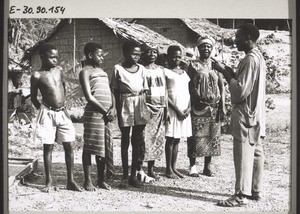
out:
{"label": "child in light short-sleeved top and shorts, right of striped wrap", "polygon": [[[150,120],[150,112],[146,106],[145,90],[148,89],[146,70],[137,62],[140,59],[141,49],[133,41],[127,41],[123,45],[125,61],[114,66],[111,80],[111,88],[116,98],[117,114],[121,137],[121,155],[123,167],[123,179],[121,186],[127,186],[127,182],[133,187],[142,187],[137,180],[136,172],[141,170],[144,159],[145,124]],[[132,144],[131,174],[128,177],[128,147],[129,133]],[[129,178],[129,181],[128,181]]]}

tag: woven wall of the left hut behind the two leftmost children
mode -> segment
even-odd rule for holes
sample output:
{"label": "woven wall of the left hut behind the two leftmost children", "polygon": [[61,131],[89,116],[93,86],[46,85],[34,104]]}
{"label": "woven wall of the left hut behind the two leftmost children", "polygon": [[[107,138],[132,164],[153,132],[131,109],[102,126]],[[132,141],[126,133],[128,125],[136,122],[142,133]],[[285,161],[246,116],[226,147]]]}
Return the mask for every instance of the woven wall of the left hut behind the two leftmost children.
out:
{"label": "woven wall of the left hut behind the two leftmost children", "polygon": [[[87,42],[96,42],[102,45],[105,52],[108,52],[107,56],[104,58],[102,67],[111,77],[113,66],[120,63],[123,59],[123,40],[118,39],[112,30],[98,19],[76,19],[75,32],[75,74],[81,70],[81,62],[85,59],[83,52],[84,45]],[[58,48],[59,64],[66,69],[68,73],[74,73],[74,22],[66,24],[64,28],[51,37],[48,42]],[[38,51],[33,54],[31,64],[32,70],[40,68],[41,62]]]}

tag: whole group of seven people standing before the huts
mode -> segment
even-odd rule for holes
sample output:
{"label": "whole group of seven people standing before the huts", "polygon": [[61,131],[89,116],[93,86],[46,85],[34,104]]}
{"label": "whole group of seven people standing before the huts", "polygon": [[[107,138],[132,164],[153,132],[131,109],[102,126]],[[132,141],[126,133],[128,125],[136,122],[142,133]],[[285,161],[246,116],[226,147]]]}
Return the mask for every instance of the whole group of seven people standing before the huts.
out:
{"label": "whole group of seven people standing before the huts", "polygon": [[[111,188],[105,182],[104,172],[106,168],[108,176],[113,174],[111,122],[116,118],[121,131],[122,187],[138,188],[143,183],[159,179],[154,171],[155,160],[162,158],[164,153],[165,176],[183,178],[176,167],[181,138],[187,138],[188,174],[199,176],[196,157],[204,157],[203,174],[214,176],[211,159],[221,154],[220,121],[226,114],[225,78],[233,104],[231,125],[234,129],[236,190],[233,197],[220,201],[218,205],[239,206],[246,204],[247,198],[260,199],[265,71],[263,58],[255,46],[258,37],[259,31],[252,24],[237,30],[236,45],[239,51],[246,53],[237,72],[211,57],[214,40],[208,37],[198,39],[200,57],[189,66],[182,66],[179,46],[169,46],[167,64],[163,67],[156,64],[157,46],[140,46],[127,41],[122,50],[124,61],[114,66],[110,82],[101,68],[105,55],[102,46],[87,43],[84,47],[86,61],[79,74],[87,100],[84,109],[83,188],[95,190],[90,176],[91,155],[95,155],[97,163],[97,186]],[[51,44],[43,44],[40,57],[42,68],[32,75],[31,98],[39,109],[36,137],[44,143],[44,191],[52,189],[54,141],[63,142],[65,148],[67,188],[81,191],[73,179],[74,157],[70,142],[75,140],[75,131],[64,108],[65,82],[62,69],[57,66],[58,51]],[[38,90],[42,94],[41,101],[37,99]],[[51,130],[51,137],[48,130]],[[132,162],[129,175],[130,142]],[[148,164],[147,173],[143,170],[144,162]]]}

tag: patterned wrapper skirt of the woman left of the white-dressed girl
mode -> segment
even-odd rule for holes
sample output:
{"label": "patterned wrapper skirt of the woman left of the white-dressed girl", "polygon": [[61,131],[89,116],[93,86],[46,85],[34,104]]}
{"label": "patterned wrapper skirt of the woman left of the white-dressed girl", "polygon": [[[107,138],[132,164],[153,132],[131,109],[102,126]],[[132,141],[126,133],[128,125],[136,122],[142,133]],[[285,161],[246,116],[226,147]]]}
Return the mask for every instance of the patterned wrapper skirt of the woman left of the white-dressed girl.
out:
{"label": "patterned wrapper skirt of the woman left of the white-dressed girl", "polygon": [[[152,110],[152,109],[151,109]],[[152,110],[152,118],[145,128],[144,161],[157,160],[164,154],[165,125],[164,108]]]}

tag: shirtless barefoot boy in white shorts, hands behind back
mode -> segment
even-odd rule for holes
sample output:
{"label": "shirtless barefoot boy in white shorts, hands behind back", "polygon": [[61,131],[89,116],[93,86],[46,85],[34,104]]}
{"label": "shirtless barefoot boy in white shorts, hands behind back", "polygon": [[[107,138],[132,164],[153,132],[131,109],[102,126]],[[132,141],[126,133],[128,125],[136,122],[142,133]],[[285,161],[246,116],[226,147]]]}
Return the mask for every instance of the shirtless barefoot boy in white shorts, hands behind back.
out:
{"label": "shirtless barefoot boy in white shorts, hands behind back", "polygon": [[[67,165],[67,189],[81,191],[73,178],[74,154],[71,142],[75,140],[75,128],[64,107],[65,81],[63,70],[57,66],[58,50],[55,46],[45,43],[41,45],[39,54],[42,66],[31,76],[31,101],[39,110],[35,139],[43,143],[46,186],[44,192],[50,192],[52,186],[52,150],[54,142],[62,142]],[[41,102],[37,99],[38,90],[42,95]]]}

